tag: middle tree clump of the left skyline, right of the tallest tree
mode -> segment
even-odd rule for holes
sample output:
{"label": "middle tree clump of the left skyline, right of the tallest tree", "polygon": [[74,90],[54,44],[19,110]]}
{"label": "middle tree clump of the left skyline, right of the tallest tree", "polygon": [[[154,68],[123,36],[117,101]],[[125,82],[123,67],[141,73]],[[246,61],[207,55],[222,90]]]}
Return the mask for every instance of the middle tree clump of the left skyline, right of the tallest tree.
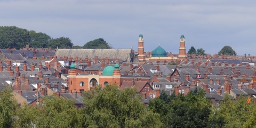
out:
{"label": "middle tree clump of the left skyline, right of the tallest tree", "polygon": [[29,31],[30,47],[48,47],[51,37],[45,33],[36,33],[34,30]]}

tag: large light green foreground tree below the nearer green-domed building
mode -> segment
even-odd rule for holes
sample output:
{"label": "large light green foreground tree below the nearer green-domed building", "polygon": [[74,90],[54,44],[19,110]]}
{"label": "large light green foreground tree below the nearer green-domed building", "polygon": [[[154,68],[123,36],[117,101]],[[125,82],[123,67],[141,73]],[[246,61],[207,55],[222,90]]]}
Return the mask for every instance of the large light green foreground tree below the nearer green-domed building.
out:
{"label": "large light green foreground tree below the nearer green-domed building", "polygon": [[147,110],[135,89],[116,85],[84,94],[81,127],[159,127],[159,115]]}

